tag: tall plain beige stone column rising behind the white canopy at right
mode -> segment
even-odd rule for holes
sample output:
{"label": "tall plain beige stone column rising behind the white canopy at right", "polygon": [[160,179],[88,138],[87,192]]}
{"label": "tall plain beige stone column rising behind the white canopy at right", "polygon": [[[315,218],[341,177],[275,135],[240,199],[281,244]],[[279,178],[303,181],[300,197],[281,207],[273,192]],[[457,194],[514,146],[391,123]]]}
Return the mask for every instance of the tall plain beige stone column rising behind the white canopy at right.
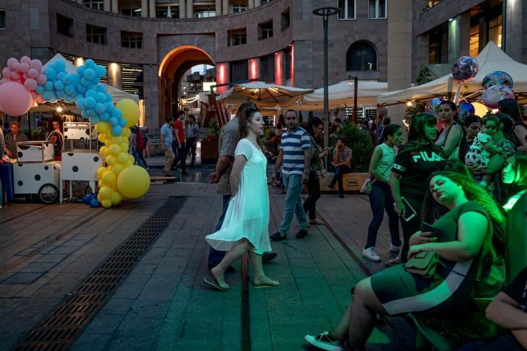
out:
{"label": "tall plain beige stone column rising behind the white canopy at right", "polygon": [[[412,0],[388,2],[388,91],[412,83]],[[389,106],[392,123],[403,125],[404,105]]]}

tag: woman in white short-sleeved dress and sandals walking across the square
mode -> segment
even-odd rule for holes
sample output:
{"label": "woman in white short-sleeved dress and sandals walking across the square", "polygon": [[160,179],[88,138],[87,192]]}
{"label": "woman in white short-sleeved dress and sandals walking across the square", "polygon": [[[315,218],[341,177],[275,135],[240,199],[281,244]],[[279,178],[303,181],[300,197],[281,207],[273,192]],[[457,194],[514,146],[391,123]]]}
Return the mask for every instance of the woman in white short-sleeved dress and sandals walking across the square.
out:
{"label": "woman in white short-sleeved dress and sandals walking across the square", "polygon": [[253,286],[279,287],[280,282],[268,278],[262,269],[262,254],[271,251],[269,242],[269,192],[267,188],[267,158],[259,145],[264,134],[264,119],[256,106],[244,109],[239,120],[239,142],[230,175],[231,200],[225,220],[218,232],[205,239],[214,249],[228,251],[221,262],[211,269],[212,276],[204,281],[225,291],[227,267],[252,250],[255,272]]}

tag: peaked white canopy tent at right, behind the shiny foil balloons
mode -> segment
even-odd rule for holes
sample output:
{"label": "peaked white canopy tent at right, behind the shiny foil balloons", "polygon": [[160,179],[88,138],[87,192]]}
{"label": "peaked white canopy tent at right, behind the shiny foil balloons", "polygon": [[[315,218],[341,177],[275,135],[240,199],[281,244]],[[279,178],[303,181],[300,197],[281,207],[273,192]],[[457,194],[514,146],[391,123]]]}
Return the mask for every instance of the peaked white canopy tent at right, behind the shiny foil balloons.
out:
{"label": "peaked white canopy tent at right, behind the shiny foil balloons", "polygon": [[[480,67],[477,75],[470,82],[462,83],[462,98],[474,100],[481,95],[481,84],[485,76],[494,71],[508,73],[514,81],[514,93],[519,97],[519,103],[527,102],[527,65],[514,61],[505,54],[494,42],[489,42],[476,57]],[[447,74],[435,81],[411,88],[379,94],[377,104],[389,106],[404,104],[409,101],[425,103],[432,97],[443,97],[455,94],[457,81]]]}

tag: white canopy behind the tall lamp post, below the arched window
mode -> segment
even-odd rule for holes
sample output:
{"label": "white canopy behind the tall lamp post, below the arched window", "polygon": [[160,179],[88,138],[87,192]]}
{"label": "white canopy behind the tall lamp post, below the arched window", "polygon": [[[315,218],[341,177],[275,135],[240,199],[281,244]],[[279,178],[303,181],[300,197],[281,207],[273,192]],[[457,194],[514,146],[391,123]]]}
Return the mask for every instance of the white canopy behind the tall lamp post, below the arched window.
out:
{"label": "white canopy behind the tall lamp post, below the arched window", "polygon": [[[376,107],[377,95],[386,93],[388,83],[358,82],[357,106]],[[355,83],[343,81],[328,87],[329,109],[353,106]],[[297,111],[322,111],[324,109],[324,88],[318,88],[313,93],[302,94],[289,108]]]}

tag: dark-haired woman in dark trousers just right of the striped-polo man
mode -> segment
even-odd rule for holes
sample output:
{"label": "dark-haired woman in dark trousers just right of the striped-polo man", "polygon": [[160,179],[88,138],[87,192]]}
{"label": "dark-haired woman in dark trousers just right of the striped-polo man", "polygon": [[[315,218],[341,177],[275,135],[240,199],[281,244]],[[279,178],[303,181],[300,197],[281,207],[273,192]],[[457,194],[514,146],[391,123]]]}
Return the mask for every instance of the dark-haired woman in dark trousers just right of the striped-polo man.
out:
{"label": "dark-haired woman in dark trousers just right of the striped-polo man", "polygon": [[309,180],[307,182],[309,197],[304,201],[304,211],[309,213],[309,224],[324,224],[317,218],[315,208],[317,200],[320,198],[320,183],[317,172],[324,168],[321,159],[329,153],[329,147],[323,150],[317,143],[317,138],[324,132],[324,123],[320,118],[313,117],[306,126],[306,131],[309,133],[309,141],[311,142],[311,166],[309,167]]}

